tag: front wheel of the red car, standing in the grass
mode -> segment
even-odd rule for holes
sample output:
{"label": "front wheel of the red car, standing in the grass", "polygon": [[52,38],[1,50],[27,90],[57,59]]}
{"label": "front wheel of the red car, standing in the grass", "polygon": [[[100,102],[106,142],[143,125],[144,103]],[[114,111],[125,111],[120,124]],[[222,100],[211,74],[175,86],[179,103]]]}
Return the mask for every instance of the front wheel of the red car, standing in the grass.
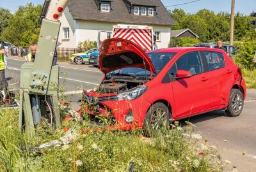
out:
{"label": "front wheel of the red car, standing in the grass", "polygon": [[144,119],[143,133],[145,136],[157,136],[161,130],[170,129],[170,110],[163,103],[153,104]]}

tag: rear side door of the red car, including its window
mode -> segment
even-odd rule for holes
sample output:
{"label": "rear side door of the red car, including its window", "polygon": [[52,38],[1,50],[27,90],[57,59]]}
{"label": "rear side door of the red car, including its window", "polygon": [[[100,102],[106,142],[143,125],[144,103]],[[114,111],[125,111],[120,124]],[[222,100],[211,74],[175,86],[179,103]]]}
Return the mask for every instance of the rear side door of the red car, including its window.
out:
{"label": "rear side door of the red car, including its window", "polygon": [[231,71],[225,68],[225,58],[220,52],[204,51],[208,64],[209,90],[210,90],[210,108],[216,108],[225,104],[225,93],[223,87],[225,83],[230,82],[228,77]]}

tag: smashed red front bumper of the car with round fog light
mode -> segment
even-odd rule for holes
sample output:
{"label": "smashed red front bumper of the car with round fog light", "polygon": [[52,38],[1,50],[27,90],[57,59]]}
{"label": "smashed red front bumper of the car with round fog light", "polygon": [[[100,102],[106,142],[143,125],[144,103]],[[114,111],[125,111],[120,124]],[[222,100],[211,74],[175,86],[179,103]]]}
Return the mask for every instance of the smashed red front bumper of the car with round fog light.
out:
{"label": "smashed red front bumper of the car with round fog light", "polygon": [[[93,90],[91,92],[84,90],[81,110],[77,111],[77,113],[79,115],[88,114],[96,118],[108,118],[113,121],[108,127],[99,127],[94,131],[125,131],[143,127],[145,114],[150,103],[145,100],[142,101],[143,97],[135,100],[119,101],[116,96],[117,94],[97,94]],[[70,116],[70,118],[72,117]],[[92,129],[83,130],[83,132],[88,131],[92,131]]]}

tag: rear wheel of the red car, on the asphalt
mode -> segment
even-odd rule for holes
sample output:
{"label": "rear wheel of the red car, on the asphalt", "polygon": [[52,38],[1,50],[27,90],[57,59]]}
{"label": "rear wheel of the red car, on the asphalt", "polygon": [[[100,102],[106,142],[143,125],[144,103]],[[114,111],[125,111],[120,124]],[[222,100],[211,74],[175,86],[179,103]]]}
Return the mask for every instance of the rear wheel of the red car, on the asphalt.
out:
{"label": "rear wheel of the red car, on the asphalt", "polygon": [[237,117],[241,114],[244,107],[244,96],[241,90],[232,89],[228,99],[228,107],[226,113],[230,117]]}

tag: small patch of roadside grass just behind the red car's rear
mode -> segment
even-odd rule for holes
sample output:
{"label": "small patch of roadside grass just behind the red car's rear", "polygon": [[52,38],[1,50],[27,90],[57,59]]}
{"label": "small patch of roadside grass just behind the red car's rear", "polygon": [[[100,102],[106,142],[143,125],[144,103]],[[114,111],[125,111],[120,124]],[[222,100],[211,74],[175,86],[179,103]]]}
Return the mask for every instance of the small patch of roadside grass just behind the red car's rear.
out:
{"label": "small patch of roadside grass just behind the red car's rear", "polygon": [[256,69],[243,69],[243,76],[247,89],[256,89]]}

